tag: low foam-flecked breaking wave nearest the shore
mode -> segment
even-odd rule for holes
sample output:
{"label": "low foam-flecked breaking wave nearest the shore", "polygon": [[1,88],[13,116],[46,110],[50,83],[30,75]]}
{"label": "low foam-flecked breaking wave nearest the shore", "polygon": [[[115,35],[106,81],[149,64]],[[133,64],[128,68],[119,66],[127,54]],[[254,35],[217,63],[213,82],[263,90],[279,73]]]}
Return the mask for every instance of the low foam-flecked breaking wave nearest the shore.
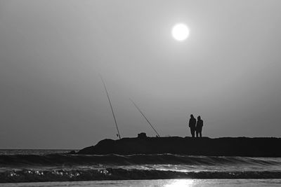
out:
{"label": "low foam-flecked breaking wave nearest the shore", "polygon": [[0,173],[0,183],[136,179],[281,179],[281,172],[174,172],[146,169],[22,169]]}

